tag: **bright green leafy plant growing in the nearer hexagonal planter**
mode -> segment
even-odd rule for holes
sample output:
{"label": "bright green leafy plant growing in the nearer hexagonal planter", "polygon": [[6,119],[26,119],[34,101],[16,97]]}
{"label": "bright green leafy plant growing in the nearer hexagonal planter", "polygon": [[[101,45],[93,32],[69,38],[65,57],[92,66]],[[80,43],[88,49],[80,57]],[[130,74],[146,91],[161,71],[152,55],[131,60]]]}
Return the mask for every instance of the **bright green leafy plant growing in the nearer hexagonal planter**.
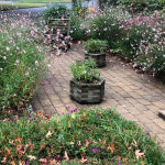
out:
{"label": "bright green leafy plant growing in the nearer hexagonal planter", "polygon": [[70,66],[72,75],[80,82],[94,82],[99,78],[99,72],[95,69],[96,63],[92,59],[76,62]]}

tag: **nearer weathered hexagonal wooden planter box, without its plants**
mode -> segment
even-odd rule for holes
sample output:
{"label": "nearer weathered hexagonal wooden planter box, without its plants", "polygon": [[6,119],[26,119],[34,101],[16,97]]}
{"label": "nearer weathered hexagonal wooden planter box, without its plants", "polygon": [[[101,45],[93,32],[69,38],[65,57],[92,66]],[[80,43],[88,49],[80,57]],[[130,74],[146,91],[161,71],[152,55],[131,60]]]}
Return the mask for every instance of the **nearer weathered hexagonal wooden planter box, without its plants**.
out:
{"label": "nearer weathered hexagonal wooden planter box, without its plants", "polygon": [[105,96],[105,80],[97,84],[81,84],[76,79],[70,80],[70,98],[79,103],[99,103]]}

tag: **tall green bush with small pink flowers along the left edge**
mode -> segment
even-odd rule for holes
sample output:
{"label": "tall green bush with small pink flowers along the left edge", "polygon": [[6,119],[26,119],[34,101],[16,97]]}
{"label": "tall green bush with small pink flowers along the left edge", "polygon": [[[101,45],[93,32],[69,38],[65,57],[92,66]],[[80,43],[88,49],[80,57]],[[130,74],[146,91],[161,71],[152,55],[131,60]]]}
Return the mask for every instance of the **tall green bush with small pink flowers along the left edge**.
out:
{"label": "tall green bush with small pink flowers along the left edge", "polygon": [[25,20],[0,28],[0,110],[21,110],[43,74],[38,29]]}

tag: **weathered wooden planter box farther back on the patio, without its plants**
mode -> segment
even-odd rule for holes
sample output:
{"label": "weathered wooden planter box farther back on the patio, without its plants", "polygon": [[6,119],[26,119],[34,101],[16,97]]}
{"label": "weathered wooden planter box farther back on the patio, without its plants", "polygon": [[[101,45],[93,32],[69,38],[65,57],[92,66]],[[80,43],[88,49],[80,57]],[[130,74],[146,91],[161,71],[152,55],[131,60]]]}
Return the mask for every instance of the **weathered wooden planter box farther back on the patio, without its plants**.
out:
{"label": "weathered wooden planter box farther back on the patio, without its plants", "polygon": [[92,58],[97,67],[106,66],[106,53],[89,53],[85,51],[85,59]]}

